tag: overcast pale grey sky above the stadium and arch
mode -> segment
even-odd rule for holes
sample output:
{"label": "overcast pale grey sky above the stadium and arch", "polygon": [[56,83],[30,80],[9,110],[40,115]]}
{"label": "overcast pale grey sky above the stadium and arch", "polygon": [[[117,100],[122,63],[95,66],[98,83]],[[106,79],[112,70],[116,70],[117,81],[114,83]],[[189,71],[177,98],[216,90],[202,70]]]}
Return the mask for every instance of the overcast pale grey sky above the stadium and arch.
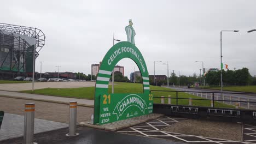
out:
{"label": "overcast pale grey sky above the stadium and arch", "polygon": [[[125,26],[132,19],[135,43],[150,75],[199,74],[203,61],[220,68],[220,31],[223,63],[229,69],[246,67],[256,75],[256,1],[2,1],[3,23],[37,27],[46,35],[36,60],[36,71],[80,71],[90,74],[91,64],[102,61],[115,38],[126,41]],[[137,65],[130,59],[119,63],[129,76]]]}

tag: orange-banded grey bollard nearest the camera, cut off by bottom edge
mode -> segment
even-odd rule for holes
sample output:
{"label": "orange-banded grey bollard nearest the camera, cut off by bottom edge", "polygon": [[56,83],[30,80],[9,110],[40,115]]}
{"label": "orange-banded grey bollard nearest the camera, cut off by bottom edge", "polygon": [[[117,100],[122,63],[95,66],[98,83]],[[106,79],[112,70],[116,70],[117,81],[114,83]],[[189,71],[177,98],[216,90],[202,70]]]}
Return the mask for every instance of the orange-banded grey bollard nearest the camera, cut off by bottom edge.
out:
{"label": "orange-banded grey bollard nearest the camera, cut off by bottom edge", "polygon": [[24,116],[24,143],[36,143],[34,141],[34,103],[25,104]]}

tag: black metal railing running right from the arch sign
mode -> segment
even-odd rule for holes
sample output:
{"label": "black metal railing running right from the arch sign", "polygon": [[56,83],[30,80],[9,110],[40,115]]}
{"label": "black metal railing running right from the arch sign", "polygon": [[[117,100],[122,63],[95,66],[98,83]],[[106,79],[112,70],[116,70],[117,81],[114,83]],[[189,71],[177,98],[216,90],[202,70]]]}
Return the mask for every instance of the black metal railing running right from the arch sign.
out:
{"label": "black metal railing running right from the arch sign", "polygon": [[[236,102],[236,103],[256,103],[256,101],[251,101],[251,100],[249,100],[249,101],[245,101],[245,100],[225,100],[225,98],[224,98],[224,100],[219,100],[219,99],[214,99],[214,97],[215,97],[215,95],[216,94],[221,94],[220,95],[220,98],[223,96],[223,97],[225,97],[223,94],[238,94],[238,95],[243,95],[243,94],[246,94],[247,96],[248,95],[254,95],[255,96],[255,98],[251,98],[251,99],[255,99],[256,100],[256,93],[245,93],[245,92],[237,92],[237,93],[235,93],[235,92],[199,92],[199,91],[161,91],[161,90],[150,90],[150,93],[152,93],[152,92],[175,92],[176,93],[176,98],[169,98],[169,97],[153,97],[153,98],[164,98],[164,99],[176,99],[176,104],[178,105],[178,99],[187,99],[187,100],[206,100],[206,101],[211,101],[212,100],[212,103],[213,103],[213,107],[214,107],[214,102],[215,101],[224,101],[224,103],[225,103],[225,101],[229,101],[229,102]],[[198,99],[198,98],[178,98],[178,93],[211,93],[212,95],[211,95],[211,99]],[[193,95],[193,94],[192,94]],[[234,96],[234,98],[240,98],[239,96],[236,96],[236,95],[233,95]],[[194,95],[194,96],[196,96],[196,95]],[[228,95],[226,95],[226,96],[228,96]],[[197,96],[197,97],[199,97],[199,96]],[[207,95],[206,95],[206,97],[207,97]],[[218,97],[218,95],[217,95],[217,97]],[[230,97],[230,96],[229,96]],[[243,99],[245,99],[245,98],[243,98]]]}

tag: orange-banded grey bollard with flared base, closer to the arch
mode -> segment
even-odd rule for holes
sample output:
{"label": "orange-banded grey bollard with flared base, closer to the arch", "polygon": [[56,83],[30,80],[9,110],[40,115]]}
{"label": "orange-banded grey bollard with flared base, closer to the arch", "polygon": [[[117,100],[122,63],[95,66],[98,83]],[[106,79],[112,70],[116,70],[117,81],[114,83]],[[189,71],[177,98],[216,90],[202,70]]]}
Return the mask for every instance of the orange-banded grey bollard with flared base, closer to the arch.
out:
{"label": "orange-banded grey bollard with flared base, closer to the arch", "polygon": [[66,136],[76,136],[77,131],[77,101],[69,101],[69,127]]}

